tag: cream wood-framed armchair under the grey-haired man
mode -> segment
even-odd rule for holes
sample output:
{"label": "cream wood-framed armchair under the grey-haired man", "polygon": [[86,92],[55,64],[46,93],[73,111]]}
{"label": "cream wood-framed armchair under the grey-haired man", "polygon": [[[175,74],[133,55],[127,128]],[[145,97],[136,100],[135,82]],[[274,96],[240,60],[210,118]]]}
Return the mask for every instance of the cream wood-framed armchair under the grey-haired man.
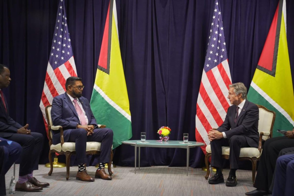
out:
{"label": "cream wood-framed armchair under the grey-haired man", "polygon": [[[257,105],[257,104],[256,104]],[[259,109],[259,120],[258,120],[258,132],[259,132],[259,143],[258,148],[241,148],[239,160],[250,160],[252,163],[252,182],[255,180],[256,162],[260,159],[262,152],[262,140],[266,140],[273,136],[273,125],[275,122],[275,112],[270,111],[267,108],[257,105]],[[230,147],[222,146],[222,157],[225,159],[230,158]],[[209,164],[208,160],[211,157],[211,147],[206,146],[205,165],[207,173],[205,179],[209,176]]]}

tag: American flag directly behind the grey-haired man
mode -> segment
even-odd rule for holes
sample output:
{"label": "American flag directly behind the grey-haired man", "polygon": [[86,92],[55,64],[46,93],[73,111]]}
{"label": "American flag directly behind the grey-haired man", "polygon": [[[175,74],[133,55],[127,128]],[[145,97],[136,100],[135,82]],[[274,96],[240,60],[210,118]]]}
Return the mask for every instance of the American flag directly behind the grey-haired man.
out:
{"label": "American flag directly behind the grey-haired man", "polygon": [[[223,22],[218,0],[213,10],[209,42],[196,104],[196,141],[210,143],[209,129],[224,121],[230,102],[228,86],[232,84],[226,50]],[[206,153],[206,146],[201,147]]]}

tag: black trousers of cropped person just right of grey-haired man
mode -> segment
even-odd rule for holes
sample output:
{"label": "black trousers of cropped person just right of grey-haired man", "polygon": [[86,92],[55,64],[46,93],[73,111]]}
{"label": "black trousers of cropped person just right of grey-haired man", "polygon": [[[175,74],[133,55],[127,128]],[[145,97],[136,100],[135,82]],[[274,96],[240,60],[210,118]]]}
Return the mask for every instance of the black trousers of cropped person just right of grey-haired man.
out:
{"label": "black trousers of cropped person just right of grey-haired man", "polygon": [[279,153],[282,149],[290,147],[294,147],[294,139],[285,136],[269,138],[265,141],[253,185],[255,188],[269,190]]}

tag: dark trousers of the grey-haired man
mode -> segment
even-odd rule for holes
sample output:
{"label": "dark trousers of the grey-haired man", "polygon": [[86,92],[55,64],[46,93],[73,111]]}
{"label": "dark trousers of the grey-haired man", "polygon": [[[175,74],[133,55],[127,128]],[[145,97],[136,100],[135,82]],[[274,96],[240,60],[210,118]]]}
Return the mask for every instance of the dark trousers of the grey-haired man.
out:
{"label": "dark trousers of the grey-haired man", "polygon": [[232,136],[231,138],[221,138],[213,140],[210,143],[211,146],[211,166],[216,168],[222,168],[223,160],[221,158],[222,146],[230,147],[230,168],[238,169],[238,160],[240,156],[240,149],[249,147],[245,136]]}

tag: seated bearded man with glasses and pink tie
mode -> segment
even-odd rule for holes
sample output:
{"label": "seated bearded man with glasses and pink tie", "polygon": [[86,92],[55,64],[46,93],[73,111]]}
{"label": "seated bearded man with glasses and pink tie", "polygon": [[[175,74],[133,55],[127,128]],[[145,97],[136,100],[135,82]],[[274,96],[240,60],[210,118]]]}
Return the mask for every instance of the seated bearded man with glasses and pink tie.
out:
{"label": "seated bearded man with glasses and pink tie", "polygon": [[[113,140],[111,129],[100,129],[93,116],[88,99],[82,97],[83,83],[79,77],[69,77],[66,80],[66,92],[54,97],[51,109],[51,118],[54,125],[62,126],[64,142],[76,143],[76,158],[78,160],[78,173],[76,179],[93,182],[86,172],[86,142],[101,142],[100,163],[95,178],[112,180],[104,170],[105,163],[110,161],[110,152]],[[60,133],[52,131],[53,144],[60,143]]]}

